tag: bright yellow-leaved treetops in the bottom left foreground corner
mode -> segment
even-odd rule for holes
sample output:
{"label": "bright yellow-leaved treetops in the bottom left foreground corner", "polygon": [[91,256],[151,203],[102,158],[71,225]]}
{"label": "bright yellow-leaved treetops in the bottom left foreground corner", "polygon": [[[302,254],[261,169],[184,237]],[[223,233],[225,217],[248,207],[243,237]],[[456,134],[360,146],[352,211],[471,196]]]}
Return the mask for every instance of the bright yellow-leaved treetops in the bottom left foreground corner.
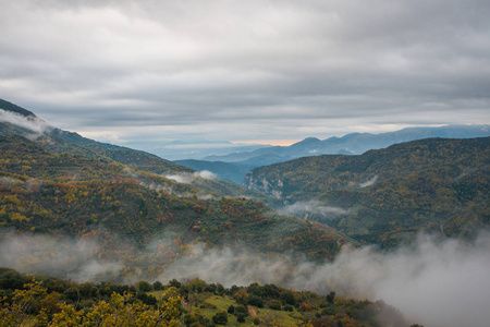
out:
{"label": "bright yellow-leaved treetops in the bottom left foreground corner", "polygon": [[7,296],[0,299],[0,327],[23,326],[27,322],[29,326],[39,327],[179,326],[182,298],[175,288],[163,292],[158,306],[135,301],[132,293],[113,293],[109,302],[99,301],[89,310],[78,311],[72,304],[58,301],[58,295],[48,294],[40,281],[26,283],[24,290],[13,292],[12,301]]}

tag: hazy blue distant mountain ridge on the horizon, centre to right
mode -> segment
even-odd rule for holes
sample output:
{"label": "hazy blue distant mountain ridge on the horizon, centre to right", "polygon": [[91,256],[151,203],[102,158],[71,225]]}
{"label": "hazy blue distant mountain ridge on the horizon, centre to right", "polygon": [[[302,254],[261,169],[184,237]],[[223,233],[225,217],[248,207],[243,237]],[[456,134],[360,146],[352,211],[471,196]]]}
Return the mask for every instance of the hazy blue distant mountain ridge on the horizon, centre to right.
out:
{"label": "hazy blue distant mountain ridge on the horizon, centre to right", "polygon": [[242,184],[246,172],[250,169],[301,157],[360,155],[370,149],[430,137],[471,138],[487,136],[490,136],[490,125],[409,128],[381,134],[351,133],[342,137],[333,136],[323,141],[307,137],[290,146],[271,146],[252,152],[232,153],[226,156],[208,156],[204,160],[176,160],[174,162],[196,170],[209,170],[217,174],[219,179]]}

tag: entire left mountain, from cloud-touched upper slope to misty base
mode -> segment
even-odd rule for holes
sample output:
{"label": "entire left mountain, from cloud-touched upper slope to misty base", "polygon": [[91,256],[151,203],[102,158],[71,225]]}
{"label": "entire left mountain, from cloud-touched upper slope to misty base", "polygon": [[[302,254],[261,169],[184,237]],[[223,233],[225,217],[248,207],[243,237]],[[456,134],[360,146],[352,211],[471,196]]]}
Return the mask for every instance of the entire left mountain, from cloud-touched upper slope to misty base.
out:
{"label": "entire left mountain, from cloud-touched upper slope to misty base", "polygon": [[326,261],[345,242],[232,183],[9,112],[0,125],[0,244],[10,249],[0,258],[9,266],[121,281],[156,278],[193,249]]}

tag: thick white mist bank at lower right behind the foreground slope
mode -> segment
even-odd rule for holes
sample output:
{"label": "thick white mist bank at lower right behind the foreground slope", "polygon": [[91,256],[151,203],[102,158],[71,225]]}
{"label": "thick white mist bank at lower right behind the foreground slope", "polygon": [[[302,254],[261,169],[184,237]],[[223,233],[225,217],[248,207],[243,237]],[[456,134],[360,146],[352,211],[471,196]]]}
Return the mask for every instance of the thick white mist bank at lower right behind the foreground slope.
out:
{"label": "thick white mist bank at lower right behind the foreground slope", "polygon": [[319,294],[383,300],[413,323],[426,326],[488,326],[490,234],[475,242],[420,234],[411,246],[380,252],[345,246],[332,263],[294,263],[241,249],[195,247],[161,280],[201,278],[225,287],[275,283]]}

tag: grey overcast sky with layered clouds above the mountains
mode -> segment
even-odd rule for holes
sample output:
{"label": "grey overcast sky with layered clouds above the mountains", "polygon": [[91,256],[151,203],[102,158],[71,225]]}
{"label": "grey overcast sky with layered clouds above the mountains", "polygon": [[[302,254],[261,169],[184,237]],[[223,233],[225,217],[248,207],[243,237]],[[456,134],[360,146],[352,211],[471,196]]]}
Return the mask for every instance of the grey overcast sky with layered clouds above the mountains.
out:
{"label": "grey overcast sky with layered clouds above the mountains", "polygon": [[0,0],[0,98],[117,144],[490,123],[490,1]]}

